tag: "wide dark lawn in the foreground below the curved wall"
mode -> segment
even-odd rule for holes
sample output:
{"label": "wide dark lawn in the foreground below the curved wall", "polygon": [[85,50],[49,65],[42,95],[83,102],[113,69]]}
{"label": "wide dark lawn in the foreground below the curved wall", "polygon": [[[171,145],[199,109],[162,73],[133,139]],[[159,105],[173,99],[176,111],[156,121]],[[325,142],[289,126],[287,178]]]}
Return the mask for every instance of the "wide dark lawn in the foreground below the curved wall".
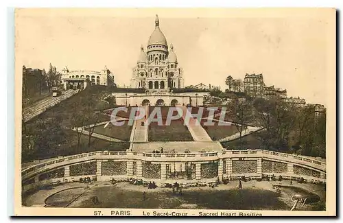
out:
{"label": "wide dark lawn in the foreground below the curved wall", "polygon": [[[137,186],[138,187],[138,186]],[[97,196],[99,204],[91,202]],[[235,209],[235,210],[288,210],[279,200],[279,194],[264,189],[197,189],[182,191],[182,196],[168,191],[141,191],[118,187],[94,187],[80,198],[78,207],[87,208],[138,208],[138,209]],[[75,207],[75,206],[74,206]]]}

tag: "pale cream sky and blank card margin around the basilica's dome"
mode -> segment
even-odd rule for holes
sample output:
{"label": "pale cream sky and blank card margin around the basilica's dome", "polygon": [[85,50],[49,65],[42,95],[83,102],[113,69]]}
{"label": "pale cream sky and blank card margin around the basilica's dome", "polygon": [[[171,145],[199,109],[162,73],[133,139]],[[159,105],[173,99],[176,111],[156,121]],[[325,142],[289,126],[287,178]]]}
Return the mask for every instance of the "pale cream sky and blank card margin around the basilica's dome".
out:
{"label": "pale cream sky and blank card margin around the basilica's dome", "polygon": [[[188,12],[188,13],[187,13]],[[16,66],[58,71],[101,71],[130,84],[141,45],[154,31],[155,14],[174,45],[185,86],[226,89],[228,75],[244,80],[263,73],[267,86],[288,96],[327,104],[335,76],[335,20],[327,11],[273,10],[22,10],[16,19]],[[329,77],[329,78],[328,78]]]}

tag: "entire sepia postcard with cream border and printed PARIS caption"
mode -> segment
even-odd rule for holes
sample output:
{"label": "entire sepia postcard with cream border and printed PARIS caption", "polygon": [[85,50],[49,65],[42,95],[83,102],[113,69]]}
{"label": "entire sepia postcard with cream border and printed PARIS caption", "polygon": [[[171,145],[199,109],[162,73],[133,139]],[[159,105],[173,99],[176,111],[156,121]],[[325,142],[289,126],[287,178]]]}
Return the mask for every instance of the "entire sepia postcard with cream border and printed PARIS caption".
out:
{"label": "entire sepia postcard with cream border and printed PARIS caption", "polygon": [[15,215],[335,216],[333,8],[15,11]]}

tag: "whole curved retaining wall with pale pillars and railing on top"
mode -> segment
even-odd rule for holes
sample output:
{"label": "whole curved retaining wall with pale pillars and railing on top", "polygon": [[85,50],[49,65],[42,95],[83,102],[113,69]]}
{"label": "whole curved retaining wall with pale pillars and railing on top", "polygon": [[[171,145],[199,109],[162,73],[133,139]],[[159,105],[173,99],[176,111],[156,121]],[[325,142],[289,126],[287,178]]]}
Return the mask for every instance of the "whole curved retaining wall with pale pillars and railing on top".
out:
{"label": "whole curved retaining wall with pale pillars and railing on top", "polygon": [[[185,176],[181,176],[185,174]],[[263,174],[303,177],[305,180],[326,181],[326,163],[304,156],[266,150],[226,150],[209,153],[152,154],[143,152],[89,152],[64,156],[23,169],[23,188],[60,180],[78,180],[97,176],[110,178],[141,178],[156,182],[204,182],[219,178]]]}

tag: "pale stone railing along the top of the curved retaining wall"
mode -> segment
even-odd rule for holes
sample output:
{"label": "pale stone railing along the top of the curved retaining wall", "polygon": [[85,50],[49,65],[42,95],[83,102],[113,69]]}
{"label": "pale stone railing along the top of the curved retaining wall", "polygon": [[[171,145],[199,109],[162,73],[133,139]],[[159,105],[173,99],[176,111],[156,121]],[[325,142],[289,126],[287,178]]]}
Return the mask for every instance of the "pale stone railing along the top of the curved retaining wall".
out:
{"label": "pale stone railing along the top of the curved retaining wall", "polygon": [[[263,159],[276,159],[289,163],[298,163],[308,165],[316,169],[320,169],[326,172],[326,163],[315,159],[309,159],[308,157],[297,156],[294,154],[285,154],[281,152],[273,152],[266,150],[226,150],[218,152],[207,153],[177,153],[177,154],[154,154],[145,152],[88,152],[73,156],[64,156],[62,158],[55,159],[53,161],[47,161],[45,163],[39,163],[23,169],[21,172],[23,178],[30,177],[40,170],[47,170],[56,168],[62,165],[70,165],[72,163],[78,163],[83,161],[89,161],[92,159],[141,159],[142,161],[179,161],[180,159],[195,159],[195,161],[202,160],[215,160],[215,159],[230,159],[237,157],[251,157],[251,158],[263,158]],[[50,167],[49,167],[50,166]],[[49,168],[47,168],[49,167]]]}

